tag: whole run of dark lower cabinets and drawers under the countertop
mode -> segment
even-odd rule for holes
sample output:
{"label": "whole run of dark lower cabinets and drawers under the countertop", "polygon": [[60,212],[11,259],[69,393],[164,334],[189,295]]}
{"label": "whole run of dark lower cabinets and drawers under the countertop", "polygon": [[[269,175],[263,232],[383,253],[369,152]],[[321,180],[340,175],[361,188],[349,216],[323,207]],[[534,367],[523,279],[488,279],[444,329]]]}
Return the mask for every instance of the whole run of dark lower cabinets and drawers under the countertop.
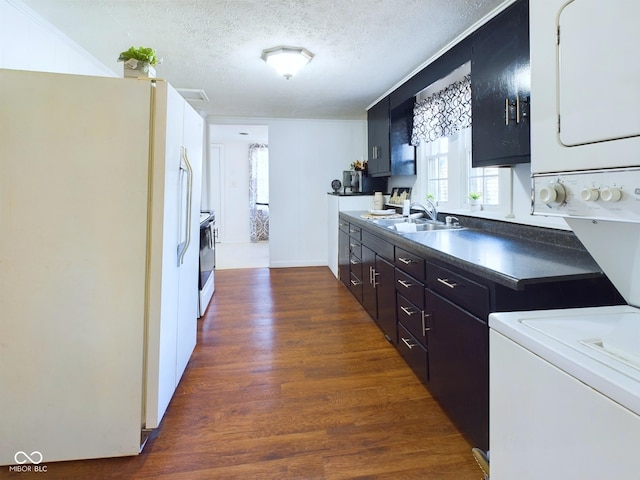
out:
{"label": "whole run of dark lower cabinets and drawers under the countertop", "polygon": [[624,303],[606,277],[515,290],[413,251],[406,242],[383,239],[378,227],[340,228],[341,279],[347,276],[343,282],[398,353],[469,442],[484,450],[489,448],[489,314]]}

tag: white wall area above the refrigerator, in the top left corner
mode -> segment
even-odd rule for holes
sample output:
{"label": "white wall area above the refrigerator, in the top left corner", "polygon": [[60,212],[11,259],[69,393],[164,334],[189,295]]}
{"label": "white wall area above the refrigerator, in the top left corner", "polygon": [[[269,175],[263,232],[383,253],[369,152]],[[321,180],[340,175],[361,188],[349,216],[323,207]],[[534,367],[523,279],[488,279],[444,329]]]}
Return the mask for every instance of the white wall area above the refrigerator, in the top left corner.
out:
{"label": "white wall area above the refrigerator, in the top left corner", "polygon": [[117,76],[18,0],[0,0],[0,67]]}

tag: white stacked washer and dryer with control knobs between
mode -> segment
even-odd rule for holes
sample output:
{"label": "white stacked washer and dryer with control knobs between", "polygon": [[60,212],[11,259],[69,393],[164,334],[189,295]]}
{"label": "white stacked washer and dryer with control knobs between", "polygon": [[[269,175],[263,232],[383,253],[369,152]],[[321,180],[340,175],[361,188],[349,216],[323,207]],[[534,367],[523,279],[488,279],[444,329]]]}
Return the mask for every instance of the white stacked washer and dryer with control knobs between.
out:
{"label": "white stacked washer and dryer with control knobs between", "polygon": [[491,478],[636,478],[640,4],[530,13],[532,212],[564,217],[628,305],[490,315]]}

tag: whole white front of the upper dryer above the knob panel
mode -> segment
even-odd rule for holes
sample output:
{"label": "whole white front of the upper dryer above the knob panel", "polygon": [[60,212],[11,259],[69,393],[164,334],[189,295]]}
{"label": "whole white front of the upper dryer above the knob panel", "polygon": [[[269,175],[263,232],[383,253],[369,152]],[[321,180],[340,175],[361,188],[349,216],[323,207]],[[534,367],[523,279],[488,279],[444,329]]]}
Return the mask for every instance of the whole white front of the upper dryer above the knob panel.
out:
{"label": "whole white front of the upper dryer above the knob panel", "polygon": [[640,3],[531,2],[531,172],[638,166]]}

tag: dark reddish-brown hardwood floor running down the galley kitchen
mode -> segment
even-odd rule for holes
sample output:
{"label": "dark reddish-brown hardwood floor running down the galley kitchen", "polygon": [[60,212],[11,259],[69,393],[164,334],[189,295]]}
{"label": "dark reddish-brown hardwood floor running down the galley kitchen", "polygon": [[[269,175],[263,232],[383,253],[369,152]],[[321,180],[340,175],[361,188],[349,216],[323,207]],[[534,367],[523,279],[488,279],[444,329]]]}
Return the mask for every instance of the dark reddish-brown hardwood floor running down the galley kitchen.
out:
{"label": "dark reddish-brown hardwood floor running down the galley kitchen", "polygon": [[0,468],[47,480],[482,478],[471,445],[326,267],[216,272],[196,350],[141,455]]}

